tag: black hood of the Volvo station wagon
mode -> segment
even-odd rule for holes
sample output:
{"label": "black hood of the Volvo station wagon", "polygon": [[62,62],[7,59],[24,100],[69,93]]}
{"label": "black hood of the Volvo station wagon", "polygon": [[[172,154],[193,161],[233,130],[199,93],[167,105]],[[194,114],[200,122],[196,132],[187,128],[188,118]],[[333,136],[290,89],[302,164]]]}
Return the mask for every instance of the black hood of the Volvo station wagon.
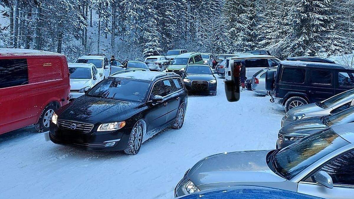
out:
{"label": "black hood of the Volvo station wagon", "polygon": [[141,102],[127,102],[83,95],[67,106],[59,108],[58,119],[82,121],[90,124],[124,121],[139,112]]}

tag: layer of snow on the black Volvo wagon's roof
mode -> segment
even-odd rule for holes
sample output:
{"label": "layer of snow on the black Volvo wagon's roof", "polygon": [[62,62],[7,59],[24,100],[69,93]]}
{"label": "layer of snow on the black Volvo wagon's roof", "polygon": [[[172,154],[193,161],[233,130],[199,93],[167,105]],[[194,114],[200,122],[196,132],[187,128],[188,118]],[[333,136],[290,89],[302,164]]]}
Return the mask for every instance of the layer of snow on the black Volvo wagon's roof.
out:
{"label": "layer of snow on the black Volvo wagon's roof", "polygon": [[[140,71],[113,74],[111,77],[136,79],[136,80],[143,80],[143,81],[153,81],[159,75],[168,76],[168,75],[172,75],[172,73],[141,71],[140,70]],[[175,76],[179,76],[179,75],[175,75]]]}

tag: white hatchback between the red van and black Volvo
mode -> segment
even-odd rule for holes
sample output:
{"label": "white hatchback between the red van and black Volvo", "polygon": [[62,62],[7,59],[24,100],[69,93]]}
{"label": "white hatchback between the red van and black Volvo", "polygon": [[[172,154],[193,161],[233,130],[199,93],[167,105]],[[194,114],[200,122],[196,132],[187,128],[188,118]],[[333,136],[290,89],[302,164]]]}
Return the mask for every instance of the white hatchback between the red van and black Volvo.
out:
{"label": "white hatchback between the red van and black Volvo", "polygon": [[102,79],[99,76],[96,66],[92,63],[69,63],[70,73],[70,100],[78,98],[99,83]]}

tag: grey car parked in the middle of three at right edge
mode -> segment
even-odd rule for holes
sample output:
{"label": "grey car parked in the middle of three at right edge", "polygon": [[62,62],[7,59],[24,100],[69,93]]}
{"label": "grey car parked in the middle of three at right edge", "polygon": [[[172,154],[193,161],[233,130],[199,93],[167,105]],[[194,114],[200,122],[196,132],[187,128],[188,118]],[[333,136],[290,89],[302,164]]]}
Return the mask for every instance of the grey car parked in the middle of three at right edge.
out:
{"label": "grey car parked in the middle of three at right edge", "polygon": [[319,130],[352,122],[354,122],[354,107],[333,115],[295,121],[279,130],[276,147],[284,148]]}

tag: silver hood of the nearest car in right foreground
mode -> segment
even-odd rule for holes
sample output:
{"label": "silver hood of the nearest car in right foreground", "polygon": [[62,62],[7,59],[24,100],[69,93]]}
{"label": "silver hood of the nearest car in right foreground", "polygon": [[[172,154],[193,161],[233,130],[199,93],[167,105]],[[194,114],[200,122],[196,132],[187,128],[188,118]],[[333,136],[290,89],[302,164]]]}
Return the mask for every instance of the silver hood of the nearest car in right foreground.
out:
{"label": "silver hood of the nearest car in right foreground", "polygon": [[200,160],[187,178],[196,186],[220,182],[283,182],[265,161],[269,150],[221,153]]}

